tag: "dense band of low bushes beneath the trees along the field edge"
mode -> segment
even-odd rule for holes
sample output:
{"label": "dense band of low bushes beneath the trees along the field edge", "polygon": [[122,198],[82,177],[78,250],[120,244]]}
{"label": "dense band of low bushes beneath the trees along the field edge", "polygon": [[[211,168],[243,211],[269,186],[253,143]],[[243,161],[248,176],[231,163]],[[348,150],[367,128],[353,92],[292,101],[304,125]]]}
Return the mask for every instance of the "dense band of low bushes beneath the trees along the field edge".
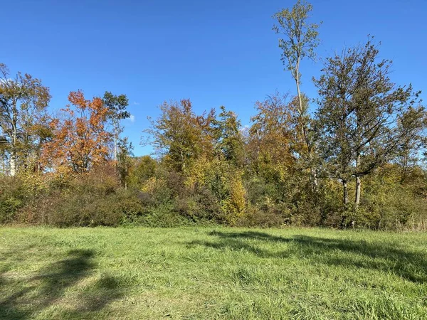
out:
{"label": "dense band of low bushes beneath the trees along the field edge", "polygon": [[221,179],[215,171],[209,174],[205,183],[191,185],[189,177],[164,170],[157,161],[144,157],[135,161],[127,188],[120,186],[110,166],[71,176],[4,177],[0,178],[0,222],[58,227],[426,228],[427,205],[421,187],[425,176],[421,170],[413,172],[411,181],[415,182],[404,184],[397,180],[394,166],[377,171],[357,210],[352,206],[342,209],[337,203],[341,188],[331,179],[322,181],[319,191],[307,196],[298,193],[298,176],[278,182],[242,174],[233,181]]}

